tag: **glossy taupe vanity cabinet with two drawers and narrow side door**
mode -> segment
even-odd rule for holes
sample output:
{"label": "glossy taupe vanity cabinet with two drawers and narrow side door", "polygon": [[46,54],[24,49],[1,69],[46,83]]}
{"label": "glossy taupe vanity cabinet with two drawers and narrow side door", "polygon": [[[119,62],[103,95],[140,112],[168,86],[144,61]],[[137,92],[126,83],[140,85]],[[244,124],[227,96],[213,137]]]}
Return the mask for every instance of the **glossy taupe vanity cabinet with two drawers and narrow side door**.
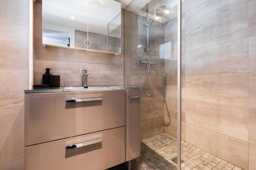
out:
{"label": "glossy taupe vanity cabinet with two drawers and narrow side door", "polygon": [[140,156],[140,90],[25,94],[25,170],[102,170]]}

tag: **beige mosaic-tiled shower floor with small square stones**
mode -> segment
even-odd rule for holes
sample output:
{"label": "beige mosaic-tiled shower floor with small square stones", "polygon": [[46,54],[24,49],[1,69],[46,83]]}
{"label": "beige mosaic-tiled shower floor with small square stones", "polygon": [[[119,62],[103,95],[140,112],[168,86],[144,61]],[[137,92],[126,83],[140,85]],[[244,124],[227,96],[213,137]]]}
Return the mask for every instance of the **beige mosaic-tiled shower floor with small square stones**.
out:
{"label": "beige mosaic-tiled shower floor with small square stones", "polygon": [[[181,142],[182,156],[184,161],[181,164],[184,170],[242,170],[242,168],[211,155],[192,144]],[[177,169],[172,161],[177,157],[177,138],[162,133],[152,138],[144,139],[141,142],[141,157],[136,159],[140,169],[159,170]]]}

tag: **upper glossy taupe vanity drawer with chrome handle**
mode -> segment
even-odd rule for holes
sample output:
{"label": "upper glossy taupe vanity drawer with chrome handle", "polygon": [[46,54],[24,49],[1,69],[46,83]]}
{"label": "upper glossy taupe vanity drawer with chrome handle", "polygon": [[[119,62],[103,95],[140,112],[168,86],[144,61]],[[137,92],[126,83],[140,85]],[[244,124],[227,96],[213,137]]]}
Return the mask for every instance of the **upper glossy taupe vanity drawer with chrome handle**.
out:
{"label": "upper glossy taupe vanity drawer with chrome handle", "polygon": [[125,126],[125,98],[125,90],[25,94],[25,145]]}

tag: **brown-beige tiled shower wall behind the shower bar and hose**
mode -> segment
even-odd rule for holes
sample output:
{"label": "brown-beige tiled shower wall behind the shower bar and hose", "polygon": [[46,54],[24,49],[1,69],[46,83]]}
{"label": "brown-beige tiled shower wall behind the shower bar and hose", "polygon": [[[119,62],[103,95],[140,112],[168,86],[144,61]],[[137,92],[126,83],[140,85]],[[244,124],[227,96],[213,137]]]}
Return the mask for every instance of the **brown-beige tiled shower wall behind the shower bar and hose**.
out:
{"label": "brown-beige tiled shower wall behind the shower bar and hose", "polygon": [[[154,95],[148,97],[144,86],[147,78],[147,65],[138,65],[139,60],[148,60],[144,52],[146,44],[145,17],[124,11],[124,84],[141,87],[141,138],[149,138],[164,132],[164,60],[158,58],[158,45],[162,42],[163,28],[155,22],[151,28],[152,61],[151,80]],[[138,48],[138,44],[143,45]],[[147,85],[148,91],[150,86]]]}

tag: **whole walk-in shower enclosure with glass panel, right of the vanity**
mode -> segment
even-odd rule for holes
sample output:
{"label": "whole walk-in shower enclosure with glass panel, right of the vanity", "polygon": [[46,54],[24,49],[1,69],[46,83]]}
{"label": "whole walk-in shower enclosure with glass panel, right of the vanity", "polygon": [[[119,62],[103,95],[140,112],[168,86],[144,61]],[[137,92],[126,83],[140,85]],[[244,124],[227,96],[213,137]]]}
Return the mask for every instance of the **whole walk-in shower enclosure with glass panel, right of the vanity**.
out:
{"label": "whole walk-in shower enclosure with glass panel, right of the vanity", "polygon": [[256,169],[255,10],[134,0],[122,11],[124,85],[141,87],[135,169]]}

